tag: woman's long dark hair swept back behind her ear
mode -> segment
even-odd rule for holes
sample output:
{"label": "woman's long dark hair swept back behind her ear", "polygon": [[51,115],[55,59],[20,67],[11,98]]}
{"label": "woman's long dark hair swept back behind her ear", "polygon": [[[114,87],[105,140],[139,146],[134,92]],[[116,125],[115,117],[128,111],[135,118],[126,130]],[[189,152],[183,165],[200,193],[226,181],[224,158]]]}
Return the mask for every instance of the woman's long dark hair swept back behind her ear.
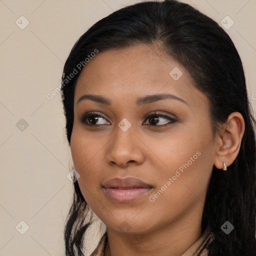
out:
{"label": "woman's long dark hair swept back behind her ear", "polygon": [[[238,111],[244,118],[245,131],[236,159],[227,171],[220,171],[213,166],[201,231],[204,232],[209,226],[214,234],[209,256],[256,255],[256,122],[247,96],[243,66],[224,29],[192,6],[176,0],[136,3],[114,11],[81,35],[71,49],[62,76],[61,97],[69,145],[74,88],[82,69],[81,63],[82,66],[87,64],[84,59],[95,49],[102,52],[155,42],[188,70],[194,86],[209,98],[215,134],[218,131],[217,124],[225,122],[231,112]],[[71,73],[75,73],[72,79],[67,77]],[[64,231],[68,256],[83,255],[84,233],[91,224],[91,218],[85,221],[89,214],[86,205],[76,181]],[[234,226],[229,234],[220,228],[226,220]]]}

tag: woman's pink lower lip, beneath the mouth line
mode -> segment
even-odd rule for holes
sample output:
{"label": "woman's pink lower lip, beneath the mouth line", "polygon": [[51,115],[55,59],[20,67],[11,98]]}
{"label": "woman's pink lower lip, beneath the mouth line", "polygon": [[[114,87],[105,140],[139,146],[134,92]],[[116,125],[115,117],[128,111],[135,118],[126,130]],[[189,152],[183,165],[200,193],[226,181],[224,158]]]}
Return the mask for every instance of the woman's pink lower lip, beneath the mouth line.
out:
{"label": "woman's pink lower lip, beneath the mouth line", "polygon": [[152,187],[136,187],[129,189],[104,187],[106,196],[115,202],[131,202],[148,194],[151,190]]}

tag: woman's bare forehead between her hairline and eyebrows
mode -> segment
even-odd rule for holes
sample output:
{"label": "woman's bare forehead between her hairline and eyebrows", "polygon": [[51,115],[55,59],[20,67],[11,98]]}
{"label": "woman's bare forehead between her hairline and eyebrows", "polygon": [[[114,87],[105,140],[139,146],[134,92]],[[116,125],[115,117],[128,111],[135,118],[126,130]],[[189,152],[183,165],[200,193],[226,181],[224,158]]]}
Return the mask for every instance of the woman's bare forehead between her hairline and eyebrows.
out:
{"label": "woman's bare forehead between her hairline and eyebrows", "polygon": [[82,69],[75,88],[75,102],[85,93],[133,101],[139,95],[173,93],[192,101],[207,102],[193,86],[188,71],[156,44],[139,44],[96,54]]}

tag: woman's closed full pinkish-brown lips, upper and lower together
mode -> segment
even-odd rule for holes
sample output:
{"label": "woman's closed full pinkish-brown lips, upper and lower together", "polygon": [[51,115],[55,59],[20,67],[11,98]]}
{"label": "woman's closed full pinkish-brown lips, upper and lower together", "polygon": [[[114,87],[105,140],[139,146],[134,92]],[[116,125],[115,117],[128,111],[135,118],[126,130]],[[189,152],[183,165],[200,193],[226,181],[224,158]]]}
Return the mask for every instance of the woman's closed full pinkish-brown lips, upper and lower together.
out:
{"label": "woman's closed full pinkish-brown lips, upper and lower together", "polygon": [[114,202],[127,203],[148,194],[153,186],[134,177],[113,178],[102,183],[105,196]]}

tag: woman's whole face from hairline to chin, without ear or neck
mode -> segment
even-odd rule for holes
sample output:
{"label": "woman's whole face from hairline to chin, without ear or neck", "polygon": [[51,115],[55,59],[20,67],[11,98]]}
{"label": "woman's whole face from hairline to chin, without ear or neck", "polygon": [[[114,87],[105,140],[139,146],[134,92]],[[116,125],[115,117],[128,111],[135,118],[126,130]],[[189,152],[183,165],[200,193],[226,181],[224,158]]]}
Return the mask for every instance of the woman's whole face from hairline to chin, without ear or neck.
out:
{"label": "woman's whole face from hairline to chin, without ear or neck", "polygon": [[[199,223],[216,157],[209,100],[155,44],[99,52],[86,64],[70,147],[82,195],[109,229]],[[143,184],[107,182],[126,177]]]}

